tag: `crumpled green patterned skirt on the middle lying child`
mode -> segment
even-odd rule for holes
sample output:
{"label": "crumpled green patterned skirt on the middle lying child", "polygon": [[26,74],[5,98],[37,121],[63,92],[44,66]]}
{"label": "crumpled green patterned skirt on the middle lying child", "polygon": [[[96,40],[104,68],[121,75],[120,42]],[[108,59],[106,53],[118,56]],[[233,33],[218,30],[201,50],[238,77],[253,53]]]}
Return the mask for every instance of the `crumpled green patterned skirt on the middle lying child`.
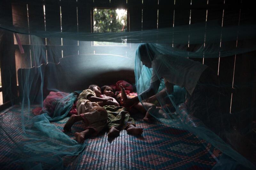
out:
{"label": "crumpled green patterned skirt on the middle lying child", "polygon": [[134,125],[135,120],[131,118],[129,112],[123,106],[103,106],[108,112],[108,128],[115,127],[118,130],[126,129],[129,125]]}

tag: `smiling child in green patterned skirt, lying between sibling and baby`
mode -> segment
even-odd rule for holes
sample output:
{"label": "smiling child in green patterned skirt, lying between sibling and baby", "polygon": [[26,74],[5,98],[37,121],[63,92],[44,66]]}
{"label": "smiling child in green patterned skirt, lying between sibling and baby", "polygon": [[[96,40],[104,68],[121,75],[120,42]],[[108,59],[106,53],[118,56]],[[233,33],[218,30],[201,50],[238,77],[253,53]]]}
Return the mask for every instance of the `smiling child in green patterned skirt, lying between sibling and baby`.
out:
{"label": "smiling child in green patterned skirt, lying between sibling and baby", "polygon": [[[103,86],[100,88],[102,97],[114,97],[113,88],[110,86]],[[116,101],[113,98],[113,102]],[[143,129],[135,127],[135,121],[130,117],[129,112],[123,106],[105,105],[103,106],[108,112],[108,137],[116,137],[119,135],[122,129],[125,129],[128,134],[141,135]]]}

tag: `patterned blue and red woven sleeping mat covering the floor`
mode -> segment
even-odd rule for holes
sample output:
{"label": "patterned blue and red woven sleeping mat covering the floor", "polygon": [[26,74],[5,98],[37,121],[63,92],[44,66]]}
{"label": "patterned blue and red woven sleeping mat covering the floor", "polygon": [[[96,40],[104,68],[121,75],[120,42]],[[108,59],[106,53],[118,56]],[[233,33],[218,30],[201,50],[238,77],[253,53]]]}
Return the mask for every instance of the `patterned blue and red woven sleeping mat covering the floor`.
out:
{"label": "patterned blue and red woven sleeping mat covering the floor", "polygon": [[[38,105],[31,105],[27,117],[33,117],[32,109]],[[182,110],[183,108],[180,107]],[[15,127],[20,123],[21,107],[14,105],[1,112],[1,143],[0,167],[1,169],[26,168],[13,163],[20,156],[19,152],[12,152],[17,146],[14,142],[22,140]],[[28,112],[28,111],[27,111]],[[67,169],[211,169],[221,152],[210,143],[199,140],[196,135],[179,128],[155,121],[145,123],[143,115],[132,115],[136,126],[143,128],[141,136],[128,135],[125,130],[117,138],[108,138],[107,131],[97,136],[89,137],[85,143],[84,151],[77,157],[64,157],[64,166]],[[63,130],[68,120],[53,122],[57,128]],[[16,128],[15,130],[12,128]],[[66,133],[75,139],[74,133],[84,129],[82,122],[76,122],[72,132]],[[13,140],[7,136],[10,135]],[[16,158],[16,159],[15,159]]]}

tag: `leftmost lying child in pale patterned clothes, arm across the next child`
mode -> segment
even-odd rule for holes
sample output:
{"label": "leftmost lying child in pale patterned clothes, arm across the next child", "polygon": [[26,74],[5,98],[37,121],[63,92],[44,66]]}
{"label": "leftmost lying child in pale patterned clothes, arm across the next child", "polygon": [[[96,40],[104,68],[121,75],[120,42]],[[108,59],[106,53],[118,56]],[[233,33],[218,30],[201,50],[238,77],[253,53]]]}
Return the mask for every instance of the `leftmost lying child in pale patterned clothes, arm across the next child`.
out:
{"label": "leftmost lying child in pale patterned clothes, arm across the next child", "polygon": [[119,105],[113,101],[112,97],[100,97],[100,87],[97,85],[90,85],[88,89],[80,93],[77,102],[77,114],[70,116],[69,120],[64,126],[64,131],[71,131],[72,125],[80,120],[83,120],[87,126],[84,131],[75,133],[78,143],[83,143],[85,136],[97,135],[108,123],[108,112],[104,105]]}

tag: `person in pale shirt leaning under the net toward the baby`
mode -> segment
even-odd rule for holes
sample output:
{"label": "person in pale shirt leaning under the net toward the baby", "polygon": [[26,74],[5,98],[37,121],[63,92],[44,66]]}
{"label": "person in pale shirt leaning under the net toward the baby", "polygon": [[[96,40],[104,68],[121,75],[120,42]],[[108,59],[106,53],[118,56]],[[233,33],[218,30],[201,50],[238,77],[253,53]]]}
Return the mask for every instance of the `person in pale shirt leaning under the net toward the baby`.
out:
{"label": "person in pale shirt leaning under the net toward the baby", "polygon": [[[163,54],[154,44],[140,44],[136,58],[148,68],[152,68],[152,76],[148,89],[138,97],[127,98],[125,105],[145,100],[156,95],[161,105],[163,98],[173,91],[173,85],[185,87],[189,96],[186,101],[190,114],[199,118],[215,133],[220,129],[219,80],[214,71],[199,62],[185,57]],[[161,80],[164,79],[165,89],[157,93]],[[137,89],[138,90],[138,89]],[[157,94],[156,94],[157,93]]]}

